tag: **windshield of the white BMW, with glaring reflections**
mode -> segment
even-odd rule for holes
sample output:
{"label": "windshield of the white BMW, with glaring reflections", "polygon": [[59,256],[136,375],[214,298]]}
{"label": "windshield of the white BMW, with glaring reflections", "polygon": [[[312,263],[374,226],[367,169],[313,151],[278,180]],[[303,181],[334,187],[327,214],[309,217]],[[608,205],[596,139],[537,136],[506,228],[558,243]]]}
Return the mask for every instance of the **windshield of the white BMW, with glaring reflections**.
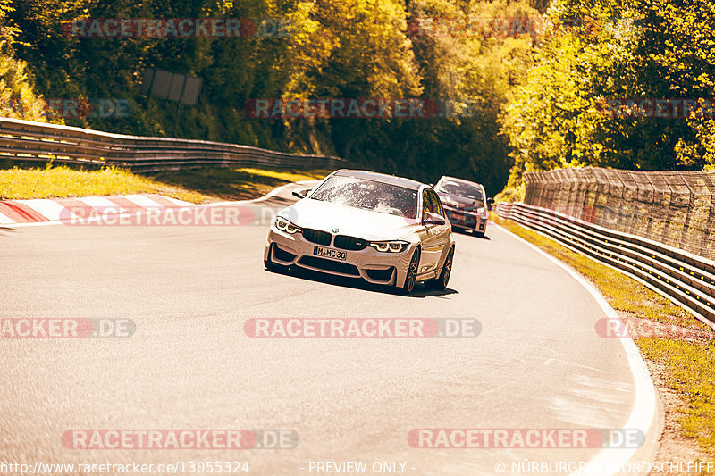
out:
{"label": "windshield of the white BMW, with glaring reflections", "polygon": [[333,175],[310,198],[405,218],[417,216],[416,190],[376,180]]}

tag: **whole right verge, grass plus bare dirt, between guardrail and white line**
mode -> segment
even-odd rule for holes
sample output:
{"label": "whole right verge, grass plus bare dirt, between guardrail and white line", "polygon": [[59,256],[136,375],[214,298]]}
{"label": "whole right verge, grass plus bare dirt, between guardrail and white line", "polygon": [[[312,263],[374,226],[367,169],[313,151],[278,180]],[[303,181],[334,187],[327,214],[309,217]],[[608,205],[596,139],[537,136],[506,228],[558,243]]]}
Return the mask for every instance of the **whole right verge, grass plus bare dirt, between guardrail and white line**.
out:
{"label": "whole right verge, grass plus bare dirt, between guardrail and white line", "polygon": [[712,338],[715,334],[711,328],[605,264],[579,255],[513,221],[501,220],[496,213],[492,213],[491,220],[580,272],[622,318],[664,322],[700,331],[633,340],[651,370],[666,410],[666,428],[658,459],[694,461],[715,456],[715,340]]}

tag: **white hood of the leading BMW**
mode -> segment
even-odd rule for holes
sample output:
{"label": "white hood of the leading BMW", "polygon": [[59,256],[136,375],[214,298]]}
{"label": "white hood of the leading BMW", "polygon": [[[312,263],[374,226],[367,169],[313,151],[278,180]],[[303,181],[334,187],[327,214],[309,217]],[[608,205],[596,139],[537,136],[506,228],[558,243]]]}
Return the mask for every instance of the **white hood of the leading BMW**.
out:
{"label": "white hood of the leading BMW", "polygon": [[415,219],[311,198],[303,198],[283,208],[278,214],[302,228],[325,231],[338,229],[340,231],[332,233],[369,240],[400,239],[422,227]]}

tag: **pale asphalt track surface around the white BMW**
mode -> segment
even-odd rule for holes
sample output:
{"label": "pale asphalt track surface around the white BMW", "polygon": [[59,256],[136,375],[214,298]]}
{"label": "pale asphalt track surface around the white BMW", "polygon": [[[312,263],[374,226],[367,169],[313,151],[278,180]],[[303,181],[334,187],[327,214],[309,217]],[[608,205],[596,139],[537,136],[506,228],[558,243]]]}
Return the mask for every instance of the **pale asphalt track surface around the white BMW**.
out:
{"label": "pale asphalt track surface around the white BMW", "polygon": [[[280,207],[289,196],[263,204]],[[448,291],[415,296],[265,271],[266,230],[0,231],[0,317],[136,325],[130,338],[0,338],[2,461],[248,462],[249,474],[266,476],[326,474],[334,467],[318,472],[317,462],[363,461],[365,474],[385,473],[373,472],[374,462],[404,463],[408,475],[516,474],[512,462],[588,461],[601,449],[423,449],[410,447],[408,433],[627,422],[635,380],[619,339],[596,335],[601,307],[504,230],[489,228],[488,239],[459,234]],[[244,332],[249,318],[276,317],[475,318],[482,331],[476,338]],[[299,444],[68,449],[61,438],[72,429],[282,429],[297,432]]]}

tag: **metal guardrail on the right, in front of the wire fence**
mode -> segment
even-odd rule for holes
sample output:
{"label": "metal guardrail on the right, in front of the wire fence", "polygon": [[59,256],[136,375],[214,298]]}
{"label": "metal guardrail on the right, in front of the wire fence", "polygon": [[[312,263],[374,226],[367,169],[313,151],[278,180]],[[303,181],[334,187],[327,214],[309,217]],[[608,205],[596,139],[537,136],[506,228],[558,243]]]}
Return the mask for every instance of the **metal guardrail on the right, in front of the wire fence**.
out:
{"label": "metal guardrail on the right, in front of the wire fence", "polygon": [[715,262],[539,206],[499,203],[496,213],[641,281],[715,328]]}

